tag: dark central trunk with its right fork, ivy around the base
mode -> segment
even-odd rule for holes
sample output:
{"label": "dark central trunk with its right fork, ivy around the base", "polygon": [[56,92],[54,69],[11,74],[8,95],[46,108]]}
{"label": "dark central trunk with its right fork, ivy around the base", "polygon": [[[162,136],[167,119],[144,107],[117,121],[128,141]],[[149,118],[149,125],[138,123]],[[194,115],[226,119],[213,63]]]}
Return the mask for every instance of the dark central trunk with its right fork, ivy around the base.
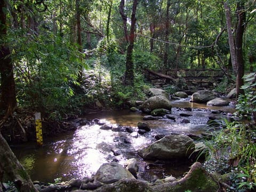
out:
{"label": "dark central trunk with its right fork, ivy around the base", "polygon": [[127,47],[126,55],[126,70],[125,70],[125,85],[133,85],[134,71],[133,71],[133,61],[132,61],[132,52],[135,38],[135,23],[136,23],[136,9],[137,9],[137,0],[133,0],[132,5],[132,17],[131,17],[131,29],[129,36],[129,45]]}

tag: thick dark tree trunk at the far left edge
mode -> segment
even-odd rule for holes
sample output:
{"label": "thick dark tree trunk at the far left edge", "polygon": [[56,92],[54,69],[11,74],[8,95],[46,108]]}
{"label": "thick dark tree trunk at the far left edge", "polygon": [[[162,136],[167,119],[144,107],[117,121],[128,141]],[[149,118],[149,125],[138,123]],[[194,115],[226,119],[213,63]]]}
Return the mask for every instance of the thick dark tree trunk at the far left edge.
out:
{"label": "thick dark tree trunk at the far left edge", "polygon": [[[6,36],[6,4],[0,0],[0,39]],[[3,42],[0,45],[0,75],[1,75],[1,100],[0,109],[5,110],[4,120],[12,116],[17,106],[15,83],[13,78],[13,65],[9,47]],[[1,127],[1,126],[0,126]]]}

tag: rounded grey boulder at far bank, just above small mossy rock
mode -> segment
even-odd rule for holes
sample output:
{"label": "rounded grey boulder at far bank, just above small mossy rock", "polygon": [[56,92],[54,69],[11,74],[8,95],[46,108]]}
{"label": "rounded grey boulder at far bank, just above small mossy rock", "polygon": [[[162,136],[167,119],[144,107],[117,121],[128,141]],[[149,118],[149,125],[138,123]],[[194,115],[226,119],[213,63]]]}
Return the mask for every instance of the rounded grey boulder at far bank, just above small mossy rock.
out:
{"label": "rounded grey boulder at far bank, just above small mossy rock", "polygon": [[161,108],[167,110],[172,109],[171,102],[162,95],[156,95],[154,97],[151,97],[140,106],[140,109],[146,113],[150,113],[150,111],[154,109]]}

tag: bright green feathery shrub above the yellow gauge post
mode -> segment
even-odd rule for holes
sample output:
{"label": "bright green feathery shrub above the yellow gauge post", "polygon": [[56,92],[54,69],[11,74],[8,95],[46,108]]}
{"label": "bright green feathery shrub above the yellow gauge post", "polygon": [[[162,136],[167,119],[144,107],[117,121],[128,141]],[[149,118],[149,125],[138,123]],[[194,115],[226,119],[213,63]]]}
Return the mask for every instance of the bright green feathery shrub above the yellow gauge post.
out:
{"label": "bright green feathery shrub above the yellow gauge post", "polygon": [[78,85],[82,55],[67,39],[52,33],[11,39],[19,105],[54,111],[68,105]]}

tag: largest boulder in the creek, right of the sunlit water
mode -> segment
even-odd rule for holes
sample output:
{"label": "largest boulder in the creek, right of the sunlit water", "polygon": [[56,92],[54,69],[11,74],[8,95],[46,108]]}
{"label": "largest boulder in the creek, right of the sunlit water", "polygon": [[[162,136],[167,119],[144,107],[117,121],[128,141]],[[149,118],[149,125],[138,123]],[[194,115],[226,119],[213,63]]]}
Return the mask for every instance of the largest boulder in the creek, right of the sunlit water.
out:
{"label": "largest boulder in the creek, right of the sunlit water", "polygon": [[188,158],[195,149],[194,141],[187,135],[166,135],[164,138],[139,150],[143,159]]}

